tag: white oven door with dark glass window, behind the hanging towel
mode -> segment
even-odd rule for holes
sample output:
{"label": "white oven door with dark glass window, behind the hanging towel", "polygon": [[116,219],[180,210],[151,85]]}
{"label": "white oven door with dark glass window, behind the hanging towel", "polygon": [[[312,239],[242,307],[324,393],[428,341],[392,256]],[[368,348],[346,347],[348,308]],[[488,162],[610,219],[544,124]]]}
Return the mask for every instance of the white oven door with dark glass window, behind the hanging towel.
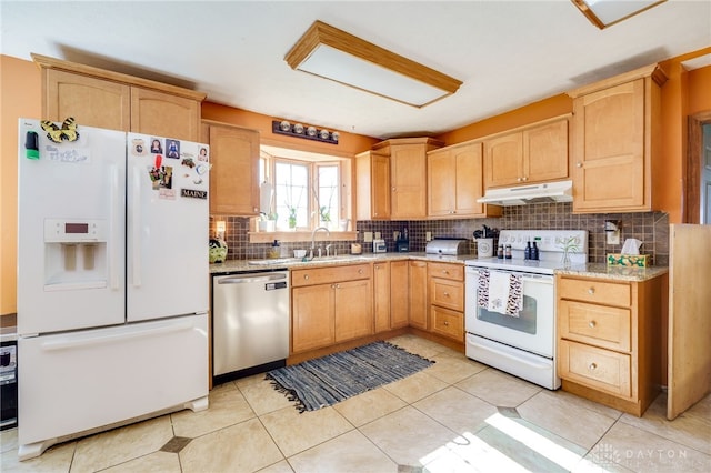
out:
{"label": "white oven door with dark glass window, behind the hanging towel", "polygon": [[550,274],[502,272],[522,276],[523,309],[519,316],[504,315],[478,306],[479,270],[468,266],[467,332],[552,359],[555,346],[554,278]]}

